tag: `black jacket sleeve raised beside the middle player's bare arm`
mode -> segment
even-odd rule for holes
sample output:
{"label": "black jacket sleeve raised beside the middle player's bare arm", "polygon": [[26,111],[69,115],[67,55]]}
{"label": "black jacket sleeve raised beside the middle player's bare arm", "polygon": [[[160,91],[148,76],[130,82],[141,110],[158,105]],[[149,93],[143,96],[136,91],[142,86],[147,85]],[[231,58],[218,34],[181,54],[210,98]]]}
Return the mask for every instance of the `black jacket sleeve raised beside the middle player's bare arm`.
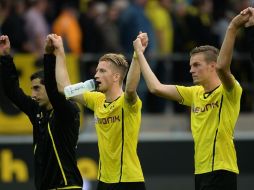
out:
{"label": "black jacket sleeve raised beside the middle player's bare arm", "polygon": [[62,120],[66,120],[74,117],[79,112],[78,106],[66,100],[65,96],[61,94],[57,89],[56,77],[55,77],[55,65],[56,57],[53,54],[44,55],[44,81],[45,88],[50,103],[54,109],[55,115]]}

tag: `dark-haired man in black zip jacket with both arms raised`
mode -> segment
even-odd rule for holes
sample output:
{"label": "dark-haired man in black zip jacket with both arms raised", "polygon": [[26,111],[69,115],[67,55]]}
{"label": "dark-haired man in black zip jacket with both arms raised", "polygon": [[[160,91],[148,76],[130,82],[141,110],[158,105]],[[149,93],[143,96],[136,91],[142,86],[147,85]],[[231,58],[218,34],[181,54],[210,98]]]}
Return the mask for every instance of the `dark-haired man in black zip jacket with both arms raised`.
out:
{"label": "dark-haired man in black zip jacket with both arms raised", "polygon": [[[50,43],[46,41],[46,46]],[[7,97],[33,125],[35,187],[37,190],[82,189],[76,150],[79,135],[77,105],[58,93],[56,57],[46,48],[44,72],[31,76],[31,97],[19,87],[18,74],[10,55],[8,36],[0,36],[0,63]],[[45,76],[45,77],[44,77]]]}

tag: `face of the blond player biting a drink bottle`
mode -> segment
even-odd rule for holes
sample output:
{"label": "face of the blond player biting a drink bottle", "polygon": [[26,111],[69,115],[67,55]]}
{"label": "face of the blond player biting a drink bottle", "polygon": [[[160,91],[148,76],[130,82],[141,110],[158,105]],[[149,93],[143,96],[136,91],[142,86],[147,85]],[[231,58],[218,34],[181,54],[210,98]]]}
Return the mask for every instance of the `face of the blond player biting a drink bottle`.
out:
{"label": "face of the blond player biting a drink bottle", "polygon": [[107,92],[112,87],[114,81],[112,65],[107,61],[100,61],[94,77],[96,82],[98,82],[97,90],[103,93]]}

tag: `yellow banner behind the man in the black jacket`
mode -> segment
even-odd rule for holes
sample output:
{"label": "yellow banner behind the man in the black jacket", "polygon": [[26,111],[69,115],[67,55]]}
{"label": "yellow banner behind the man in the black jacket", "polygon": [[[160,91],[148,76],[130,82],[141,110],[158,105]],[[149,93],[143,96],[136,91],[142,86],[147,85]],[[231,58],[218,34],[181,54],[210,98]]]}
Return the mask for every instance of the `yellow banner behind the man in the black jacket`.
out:
{"label": "yellow banner behind the man in the black jacket", "polygon": [[[66,61],[68,72],[72,83],[80,81],[78,69],[78,58],[74,55],[67,55]],[[14,56],[14,62],[19,73],[20,87],[27,95],[31,94],[30,76],[42,65],[36,64],[36,57],[28,54]],[[0,84],[1,87],[1,84]],[[11,87],[10,87],[11,88]],[[28,117],[18,110],[5,96],[2,87],[0,88],[0,134],[30,134],[32,126]]]}

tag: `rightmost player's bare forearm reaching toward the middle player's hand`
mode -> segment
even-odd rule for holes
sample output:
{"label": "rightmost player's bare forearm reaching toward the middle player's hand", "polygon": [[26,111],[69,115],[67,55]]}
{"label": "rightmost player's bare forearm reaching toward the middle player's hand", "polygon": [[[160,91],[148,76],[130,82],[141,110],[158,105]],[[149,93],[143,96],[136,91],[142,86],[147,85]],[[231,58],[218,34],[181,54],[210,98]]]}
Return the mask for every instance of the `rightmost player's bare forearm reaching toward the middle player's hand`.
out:
{"label": "rightmost player's bare forearm reaching toward the middle player's hand", "polygon": [[149,64],[146,61],[146,58],[142,52],[137,53],[141,73],[145,79],[146,85],[149,91],[153,94],[157,93],[157,87],[160,86],[160,81],[157,79]]}

